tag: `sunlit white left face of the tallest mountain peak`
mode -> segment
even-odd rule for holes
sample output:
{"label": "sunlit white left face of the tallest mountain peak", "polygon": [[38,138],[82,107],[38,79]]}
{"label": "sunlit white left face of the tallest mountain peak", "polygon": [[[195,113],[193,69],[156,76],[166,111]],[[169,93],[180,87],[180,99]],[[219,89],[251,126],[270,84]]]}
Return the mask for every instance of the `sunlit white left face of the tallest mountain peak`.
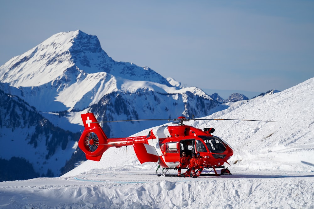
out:
{"label": "sunlit white left face of the tallest mountain peak", "polygon": [[78,31],[58,33],[0,67],[1,82],[11,86],[41,86],[62,77],[74,65],[69,48]]}

